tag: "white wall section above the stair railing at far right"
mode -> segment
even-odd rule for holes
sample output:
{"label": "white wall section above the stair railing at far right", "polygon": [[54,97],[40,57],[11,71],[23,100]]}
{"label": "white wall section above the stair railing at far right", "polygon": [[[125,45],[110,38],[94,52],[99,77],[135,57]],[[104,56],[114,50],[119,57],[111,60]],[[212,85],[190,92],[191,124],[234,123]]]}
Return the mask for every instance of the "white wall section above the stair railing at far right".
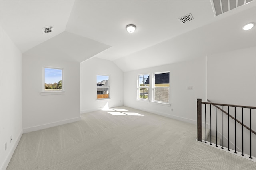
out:
{"label": "white wall section above the stair railing at far right", "polygon": [[256,47],[207,57],[208,99],[256,105]]}

